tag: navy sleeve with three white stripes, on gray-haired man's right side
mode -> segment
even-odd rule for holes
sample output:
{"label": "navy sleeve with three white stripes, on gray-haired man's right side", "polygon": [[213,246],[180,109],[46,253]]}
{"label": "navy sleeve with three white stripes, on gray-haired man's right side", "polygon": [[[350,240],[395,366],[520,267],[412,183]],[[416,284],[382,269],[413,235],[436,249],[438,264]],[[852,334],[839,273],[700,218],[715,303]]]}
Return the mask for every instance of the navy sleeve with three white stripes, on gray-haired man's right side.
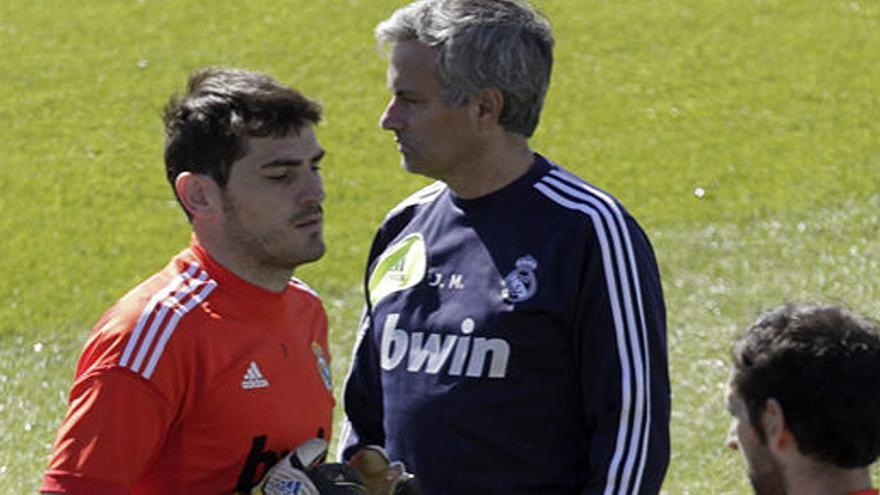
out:
{"label": "navy sleeve with three white stripes, on gray-haired man's right side", "polygon": [[576,342],[591,432],[593,494],[659,493],[669,464],[666,310],[648,238],[629,216],[597,226],[584,264]]}

